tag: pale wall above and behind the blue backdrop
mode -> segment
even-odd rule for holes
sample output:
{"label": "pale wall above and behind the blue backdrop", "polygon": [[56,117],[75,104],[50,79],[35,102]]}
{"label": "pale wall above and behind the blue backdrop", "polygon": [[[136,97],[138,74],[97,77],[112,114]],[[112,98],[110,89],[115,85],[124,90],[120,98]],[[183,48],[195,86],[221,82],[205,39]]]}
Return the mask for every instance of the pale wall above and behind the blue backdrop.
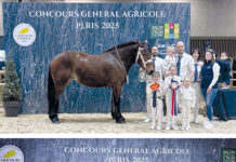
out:
{"label": "pale wall above and behind the blue backdrop", "polygon": [[[0,0],[0,11],[2,1]],[[23,2],[29,1],[40,0],[23,0]],[[57,1],[62,2],[63,0]],[[64,0],[64,2],[86,1]],[[89,2],[134,2],[134,0],[93,0]],[[191,37],[236,37],[236,0],[135,0],[135,2],[191,2]],[[0,36],[3,36],[2,12],[0,12]]]}

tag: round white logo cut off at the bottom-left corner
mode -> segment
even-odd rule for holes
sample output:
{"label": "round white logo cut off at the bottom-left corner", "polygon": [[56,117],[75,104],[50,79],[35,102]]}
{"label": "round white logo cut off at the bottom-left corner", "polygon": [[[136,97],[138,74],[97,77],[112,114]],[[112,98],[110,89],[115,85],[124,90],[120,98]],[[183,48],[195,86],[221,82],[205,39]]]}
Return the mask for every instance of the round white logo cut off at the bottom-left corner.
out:
{"label": "round white logo cut off at the bottom-left corner", "polygon": [[0,148],[0,162],[24,162],[24,156],[19,148],[6,145]]}

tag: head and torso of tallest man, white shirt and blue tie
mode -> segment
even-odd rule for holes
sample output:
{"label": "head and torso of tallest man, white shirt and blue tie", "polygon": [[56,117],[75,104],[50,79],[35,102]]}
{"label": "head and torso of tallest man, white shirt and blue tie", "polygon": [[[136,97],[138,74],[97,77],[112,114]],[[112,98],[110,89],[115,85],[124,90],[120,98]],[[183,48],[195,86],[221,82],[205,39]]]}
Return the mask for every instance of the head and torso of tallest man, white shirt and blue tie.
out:
{"label": "head and torso of tallest man, white shirt and blue tie", "polygon": [[185,77],[194,77],[194,58],[184,52],[184,43],[182,41],[176,42],[176,68],[178,76],[183,80]]}

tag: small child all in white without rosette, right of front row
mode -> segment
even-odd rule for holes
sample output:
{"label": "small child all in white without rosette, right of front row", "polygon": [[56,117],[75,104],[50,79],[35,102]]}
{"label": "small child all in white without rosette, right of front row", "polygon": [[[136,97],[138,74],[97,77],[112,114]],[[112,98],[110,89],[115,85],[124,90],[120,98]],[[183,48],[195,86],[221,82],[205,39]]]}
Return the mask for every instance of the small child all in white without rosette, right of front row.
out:
{"label": "small child all in white without rosette, right of front row", "polygon": [[195,107],[195,91],[191,87],[191,78],[184,79],[184,86],[180,90],[180,108],[182,109],[182,129],[191,129],[191,108]]}

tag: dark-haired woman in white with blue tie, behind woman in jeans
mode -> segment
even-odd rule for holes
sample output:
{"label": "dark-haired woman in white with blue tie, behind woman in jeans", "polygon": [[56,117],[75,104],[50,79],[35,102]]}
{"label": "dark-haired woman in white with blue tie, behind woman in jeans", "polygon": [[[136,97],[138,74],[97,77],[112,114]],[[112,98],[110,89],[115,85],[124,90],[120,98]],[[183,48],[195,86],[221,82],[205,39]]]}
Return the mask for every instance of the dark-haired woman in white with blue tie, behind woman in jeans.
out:
{"label": "dark-haired woman in white with blue tie, behind woman in jeans", "polygon": [[200,70],[201,67],[204,65],[202,62],[200,62],[200,52],[198,49],[194,49],[192,51],[192,56],[194,58],[194,67],[195,67],[195,71],[194,71],[194,78],[192,81],[192,87],[195,90],[195,98],[196,98],[196,104],[194,107],[194,122],[195,123],[199,123],[198,122],[198,111],[199,111],[199,103],[200,103],[200,98],[202,98],[202,95],[200,93]]}

